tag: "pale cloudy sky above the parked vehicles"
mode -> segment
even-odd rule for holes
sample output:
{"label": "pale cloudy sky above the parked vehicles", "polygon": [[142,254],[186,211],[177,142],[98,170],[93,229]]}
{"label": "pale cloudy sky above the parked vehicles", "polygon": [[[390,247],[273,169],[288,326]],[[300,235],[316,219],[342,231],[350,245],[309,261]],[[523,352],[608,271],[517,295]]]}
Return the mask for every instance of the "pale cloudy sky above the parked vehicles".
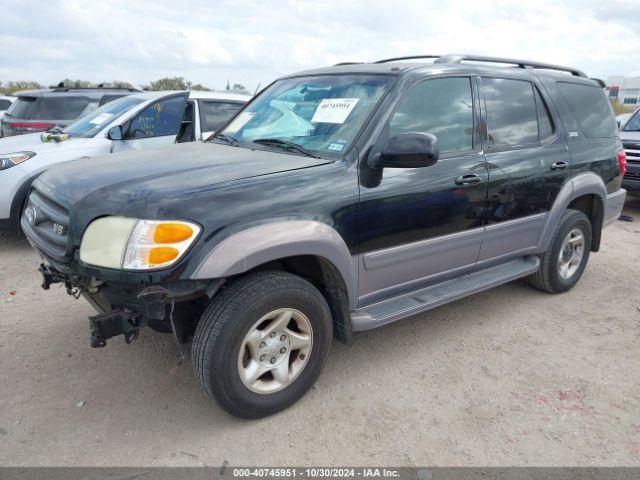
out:
{"label": "pale cloudy sky above the parked vehicles", "polygon": [[468,53],[640,75],[640,0],[0,0],[0,81],[249,90],[344,61]]}

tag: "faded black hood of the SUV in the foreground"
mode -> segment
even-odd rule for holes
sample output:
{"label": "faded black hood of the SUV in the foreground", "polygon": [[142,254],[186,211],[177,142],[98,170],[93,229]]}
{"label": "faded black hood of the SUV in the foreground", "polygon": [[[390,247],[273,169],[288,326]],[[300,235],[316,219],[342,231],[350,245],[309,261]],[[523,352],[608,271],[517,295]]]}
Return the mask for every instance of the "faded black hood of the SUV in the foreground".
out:
{"label": "faded black hood of the SUV in the foreground", "polygon": [[191,142],[155,150],[135,150],[79,159],[55,166],[39,177],[50,189],[78,203],[91,198],[103,205],[151,206],[195,196],[220,183],[298,170],[330,160]]}

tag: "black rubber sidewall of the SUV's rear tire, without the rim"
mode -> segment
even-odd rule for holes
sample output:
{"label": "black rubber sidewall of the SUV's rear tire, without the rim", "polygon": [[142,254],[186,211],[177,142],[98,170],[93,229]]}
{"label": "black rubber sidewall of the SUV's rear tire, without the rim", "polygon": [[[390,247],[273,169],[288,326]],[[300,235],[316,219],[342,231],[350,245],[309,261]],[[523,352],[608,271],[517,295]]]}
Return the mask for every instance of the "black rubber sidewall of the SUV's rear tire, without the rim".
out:
{"label": "black rubber sidewall of the SUV's rear tire, without the rim", "polygon": [[[569,234],[571,230],[574,228],[578,228],[582,231],[584,235],[584,254],[582,255],[582,260],[578,270],[571,276],[571,278],[563,278],[560,275],[560,270],[558,268],[558,259],[560,257],[560,250],[562,248],[562,242],[565,237]],[[578,211],[569,212],[569,214],[565,217],[564,221],[559,225],[558,231],[554,237],[553,244],[551,245],[550,257],[549,257],[549,282],[551,283],[551,287],[557,293],[566,292],[573,288],[576,283],[582,277],[585,268],[587,267],[587,262],[589,261],[589,254],[591,252],[591,222],[589,218]]]}

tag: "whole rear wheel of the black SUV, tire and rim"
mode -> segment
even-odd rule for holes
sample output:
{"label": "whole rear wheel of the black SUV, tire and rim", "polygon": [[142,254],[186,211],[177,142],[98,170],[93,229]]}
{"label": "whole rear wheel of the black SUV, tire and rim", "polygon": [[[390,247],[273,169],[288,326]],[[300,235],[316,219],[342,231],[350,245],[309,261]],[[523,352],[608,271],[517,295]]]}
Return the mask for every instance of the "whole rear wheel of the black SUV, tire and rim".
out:
{"label": "whole rear wheel of the black SUV, tire and rim", "polygon": [[[563,247],[570,235],[572,241],[569,243],[576,244],[577,234],[582,235],[582,254],[579,263],[572,265],[569,270],[561,268],[561,255],[568,255],[568,251]],[[549,293],[563,293],[572,289],[580,280],[584,269],[589,261],[589,253],[591,252],[591,222],[589,218],[578,210],[567,210],[553,234],[551,243],[546,252],[540,255],[540,269],[528,277],[531,285],[539,290]],[[574,247],[574,251],[575,251]],[[564,252],[564,253],[563,253]],[[564,257],[566,259],[568,257]],[[563,262],[566,265],[566,262]],[[568,275],[568,276],[567,276]]]}

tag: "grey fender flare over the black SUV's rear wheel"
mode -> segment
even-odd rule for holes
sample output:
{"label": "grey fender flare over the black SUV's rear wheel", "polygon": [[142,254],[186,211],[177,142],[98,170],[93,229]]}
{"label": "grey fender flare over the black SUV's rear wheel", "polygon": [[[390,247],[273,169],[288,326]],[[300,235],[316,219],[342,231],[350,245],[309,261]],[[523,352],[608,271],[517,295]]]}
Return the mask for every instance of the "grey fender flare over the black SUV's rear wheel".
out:
{"label": "grey fender flare over the black SUV's rear wheel", "polygon": [[567,210],[567,207],[573,200],[583,195],[595,195],[599,198],[602,207],[601,212],[604,212],[607,189],[602,178],[594,172],[579,173],[563,185],[555,202],[553,202],[553,206],[547,215],[545,225],[542,229],[542,234],[540,235],[540,241],[538,242],[539,251],[544,252],[549,248],[553,232],[555,232],[556,226]]}

